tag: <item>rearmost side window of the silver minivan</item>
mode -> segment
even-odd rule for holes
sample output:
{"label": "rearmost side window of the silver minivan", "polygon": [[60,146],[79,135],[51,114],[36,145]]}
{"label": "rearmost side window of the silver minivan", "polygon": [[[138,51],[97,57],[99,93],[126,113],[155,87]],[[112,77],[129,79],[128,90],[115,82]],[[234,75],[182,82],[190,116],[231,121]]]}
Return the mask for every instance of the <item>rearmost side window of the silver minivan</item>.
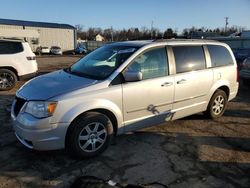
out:
{"label": "rearmost side window of the silver minivan", "polygon": [[231,54],[224,46],[208,45],[212,67],[234,64]]}

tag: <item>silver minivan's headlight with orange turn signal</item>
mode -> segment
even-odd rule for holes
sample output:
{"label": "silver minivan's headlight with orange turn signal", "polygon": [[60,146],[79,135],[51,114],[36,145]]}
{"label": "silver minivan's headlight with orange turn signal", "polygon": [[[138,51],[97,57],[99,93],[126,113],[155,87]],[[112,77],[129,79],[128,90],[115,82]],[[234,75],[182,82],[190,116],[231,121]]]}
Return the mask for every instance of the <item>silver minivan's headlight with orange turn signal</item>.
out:
{"label": "silver minivan's headlight with orange turn signal", "polygon": [[57,102],[29,101],[25,112],[37,118],[52,116],[56,110]]}

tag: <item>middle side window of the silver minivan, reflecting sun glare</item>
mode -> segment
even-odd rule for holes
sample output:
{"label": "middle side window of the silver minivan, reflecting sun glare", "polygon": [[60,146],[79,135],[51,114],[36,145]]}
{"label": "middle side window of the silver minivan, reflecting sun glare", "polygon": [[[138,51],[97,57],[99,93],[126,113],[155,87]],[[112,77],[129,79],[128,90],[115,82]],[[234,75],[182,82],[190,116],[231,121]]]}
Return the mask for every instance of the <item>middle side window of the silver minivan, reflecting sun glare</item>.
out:
{"label": "middle side window of the silver minivan, reflecting sun glare", "polygon": [[176,73],[202,70],[206,67],[202,46],[174,46],[173,47]]}

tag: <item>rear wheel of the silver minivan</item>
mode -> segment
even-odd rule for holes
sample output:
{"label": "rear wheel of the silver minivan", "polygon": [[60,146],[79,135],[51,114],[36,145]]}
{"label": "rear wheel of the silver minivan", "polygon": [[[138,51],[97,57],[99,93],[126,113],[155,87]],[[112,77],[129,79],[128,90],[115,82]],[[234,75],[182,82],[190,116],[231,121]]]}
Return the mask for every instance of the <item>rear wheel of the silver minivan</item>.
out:
{"label": "rear wheel of the silver minivan", "polygon": [[226,110],[227,100],[226,93],[218,89],[210,99],[205,114],[212,119],[221,117]]}

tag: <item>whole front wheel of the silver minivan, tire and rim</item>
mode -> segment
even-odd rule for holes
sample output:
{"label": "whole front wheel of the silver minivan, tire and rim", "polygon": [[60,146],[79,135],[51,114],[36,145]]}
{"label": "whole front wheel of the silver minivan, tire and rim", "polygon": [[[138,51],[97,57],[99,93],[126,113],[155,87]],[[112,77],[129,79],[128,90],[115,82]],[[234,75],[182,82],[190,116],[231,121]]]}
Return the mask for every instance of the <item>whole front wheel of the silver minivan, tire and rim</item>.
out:
{"label": "whole front wheel of the silver minivan, tire and rim", "polygon": [[99,112],[88,112],[72,123],[67,150],[78,157],[92,157],[103,152],[113,135],[111,120]]}

